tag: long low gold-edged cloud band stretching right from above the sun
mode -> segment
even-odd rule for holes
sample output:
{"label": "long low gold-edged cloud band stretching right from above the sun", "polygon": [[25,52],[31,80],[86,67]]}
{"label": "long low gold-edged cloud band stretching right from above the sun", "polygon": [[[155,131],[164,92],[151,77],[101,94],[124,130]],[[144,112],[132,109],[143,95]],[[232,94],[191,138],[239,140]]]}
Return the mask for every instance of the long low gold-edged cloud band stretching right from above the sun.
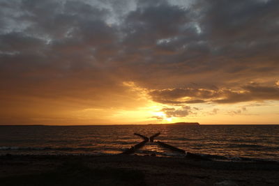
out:
{"label": "long low gold-edged cloud band stretching right from above the sun", "polygon": [[173,88],[151,91],[155,102],[163,104],[193,104],[216,102],[220,104],[248,101],[279,100],[279,87],[250,84],[232,89]]}

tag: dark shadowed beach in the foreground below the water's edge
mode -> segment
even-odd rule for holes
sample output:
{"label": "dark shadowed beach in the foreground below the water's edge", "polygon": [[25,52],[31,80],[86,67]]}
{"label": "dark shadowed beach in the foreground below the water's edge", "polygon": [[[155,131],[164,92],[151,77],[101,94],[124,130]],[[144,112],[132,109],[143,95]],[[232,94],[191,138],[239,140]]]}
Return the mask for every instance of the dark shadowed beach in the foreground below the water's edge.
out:
{"label": "dark shadowed beach in the foreground below the water's edge", "polygon": [[279,164],[137,155],[4,155],[0,185],[279,185]]}

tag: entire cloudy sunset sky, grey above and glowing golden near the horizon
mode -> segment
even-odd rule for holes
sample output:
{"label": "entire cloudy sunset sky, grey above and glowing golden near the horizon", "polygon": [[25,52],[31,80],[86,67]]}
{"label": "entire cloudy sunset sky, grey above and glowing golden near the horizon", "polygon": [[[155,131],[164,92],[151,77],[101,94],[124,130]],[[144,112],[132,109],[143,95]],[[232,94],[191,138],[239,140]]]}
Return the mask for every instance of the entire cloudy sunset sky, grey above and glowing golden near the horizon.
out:
{"label": "entire cloudy sunset sky, grey above and glowing golden near the horizon", "polygon": [[278,0],[2,0],[0,125],[278,124]]}

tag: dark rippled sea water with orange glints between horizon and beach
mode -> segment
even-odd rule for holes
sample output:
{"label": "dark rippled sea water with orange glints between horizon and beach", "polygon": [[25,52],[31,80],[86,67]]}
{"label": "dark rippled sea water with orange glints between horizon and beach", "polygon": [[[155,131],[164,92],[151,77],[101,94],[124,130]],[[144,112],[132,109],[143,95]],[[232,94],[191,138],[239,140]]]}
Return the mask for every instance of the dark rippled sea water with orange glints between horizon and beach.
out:
{"label": "dark rippled sea water with orange glints between horizon and beach", "polygon": [[[279,125],[0,126],[0,155],[112,155],[142,141],[134,132],[219,160],[279,161]],[[184,156],[150,142],[137,151],[151,153]]]}

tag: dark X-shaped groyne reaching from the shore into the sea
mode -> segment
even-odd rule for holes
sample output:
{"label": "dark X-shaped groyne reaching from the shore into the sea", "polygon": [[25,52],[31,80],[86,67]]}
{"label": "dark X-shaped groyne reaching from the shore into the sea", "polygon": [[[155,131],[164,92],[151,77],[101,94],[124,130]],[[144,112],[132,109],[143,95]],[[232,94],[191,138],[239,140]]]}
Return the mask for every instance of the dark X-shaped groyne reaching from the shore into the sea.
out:
{"label": "dark X-shaped groyne reaching from the shore into the sea", "polygon": [[[141,137],[142,139],[144,139],[144,141],[140,142],[139,144],[136,144],[135,146],[132,146],[131,148],[128,148],[127,150],[125,150],[122,154],[132,154],[132,153],[135,153],[135,150],[139,149],[139,148],[142,148],[148,141],[150,142],[154,142],[154,138],[155,137],[158,137],[160,135],[160,132],[156,133],[156,134],[153,134],[151,137],[145,137],[144,135],[142,134],[137,134],[137,133],[134,133],[136,136],[138,137]],[[169,148],[170,150],[174,150],[174,151],[177,151],[179,153],[186,153],[185,150],[182,150],[180,148],[176,148],[175,146],[171,146],[169,144],[166,144],[162,141],[156,141],[155,142],[156,144],[158,144],[159,146],[162,146],[164,148]]]}

